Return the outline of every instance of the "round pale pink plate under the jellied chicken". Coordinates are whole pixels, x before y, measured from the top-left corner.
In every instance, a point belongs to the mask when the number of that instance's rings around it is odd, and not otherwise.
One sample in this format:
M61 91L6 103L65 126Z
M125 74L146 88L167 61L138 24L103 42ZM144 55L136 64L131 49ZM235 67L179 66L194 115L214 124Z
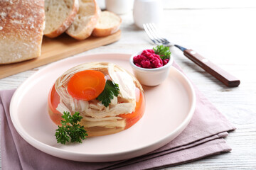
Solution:
M166 145L190 122L196 105L191 83L174 67L156 87L144 86L146 111L131 128L114 135L90 137L82 144L60 145L58 127L47 111L48 93L63 72L85 62L113 62L132 72L127 54L70 57L44 67L21 84L11 99L11 120L18 133L33 147L55 157L80 162L129 159Z

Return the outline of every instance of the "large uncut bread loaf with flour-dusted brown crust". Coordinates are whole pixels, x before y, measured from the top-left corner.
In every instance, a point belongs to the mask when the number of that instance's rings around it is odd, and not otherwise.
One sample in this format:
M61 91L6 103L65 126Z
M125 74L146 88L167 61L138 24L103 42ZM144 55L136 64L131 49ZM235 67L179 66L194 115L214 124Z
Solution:
M0 64L29 60L41 55L44 1L1 1Z

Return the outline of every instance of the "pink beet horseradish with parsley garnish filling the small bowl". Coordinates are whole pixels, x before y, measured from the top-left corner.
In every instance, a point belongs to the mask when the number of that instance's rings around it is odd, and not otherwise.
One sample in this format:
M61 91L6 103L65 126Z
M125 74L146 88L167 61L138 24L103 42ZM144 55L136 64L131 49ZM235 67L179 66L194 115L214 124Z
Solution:
M163 67L170 60L171 52L169 47L159 45L153 49L143 50L142 54L133 58L134 64L137 67L145 69L154 69Z

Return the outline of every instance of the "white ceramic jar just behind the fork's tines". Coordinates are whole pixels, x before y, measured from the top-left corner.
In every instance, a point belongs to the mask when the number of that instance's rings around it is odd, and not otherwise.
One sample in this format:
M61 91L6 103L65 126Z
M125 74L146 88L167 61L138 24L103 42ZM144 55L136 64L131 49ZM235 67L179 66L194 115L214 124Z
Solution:
M161 25L163 4L161 0L134 0L134 23L143 29L144 23Z

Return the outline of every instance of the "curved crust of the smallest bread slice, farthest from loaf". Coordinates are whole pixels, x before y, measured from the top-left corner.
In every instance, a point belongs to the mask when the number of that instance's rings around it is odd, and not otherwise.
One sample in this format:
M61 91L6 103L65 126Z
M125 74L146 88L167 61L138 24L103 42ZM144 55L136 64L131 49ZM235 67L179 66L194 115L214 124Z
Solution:
M112 13L110 11L107 11L109 13ZM115 13L113 13L115 16L117 16ZM119 30L120 28L120 25L122 23L122 18L120 18L119 16L117 16L120 21L117 25L115 26L112 26L111 28L97 28L97 26L95 27L95 29L92 31L92 35L95 36L95 37L105 37L105 36L108 36L108 35L111 35L113 33L116 33L117 30Z

